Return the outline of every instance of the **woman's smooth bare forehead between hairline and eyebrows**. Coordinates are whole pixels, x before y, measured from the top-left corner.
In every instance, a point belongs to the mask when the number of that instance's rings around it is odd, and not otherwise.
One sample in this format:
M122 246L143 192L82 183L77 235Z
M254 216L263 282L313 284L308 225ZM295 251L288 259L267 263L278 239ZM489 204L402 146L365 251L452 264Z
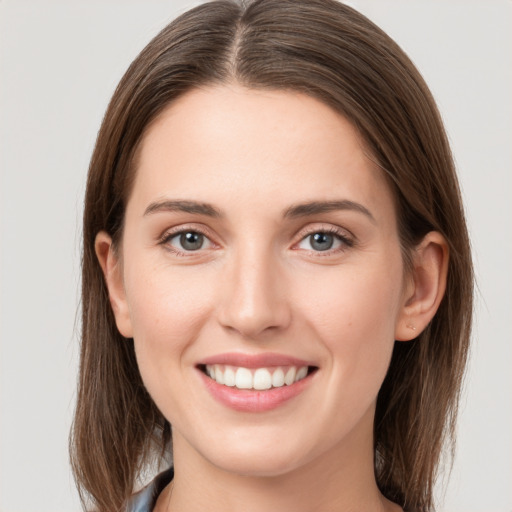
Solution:
M168 196L277 208L340 195L390 198L350 122L301 93L223 85L188 92L152 123L130 201L142 208Z

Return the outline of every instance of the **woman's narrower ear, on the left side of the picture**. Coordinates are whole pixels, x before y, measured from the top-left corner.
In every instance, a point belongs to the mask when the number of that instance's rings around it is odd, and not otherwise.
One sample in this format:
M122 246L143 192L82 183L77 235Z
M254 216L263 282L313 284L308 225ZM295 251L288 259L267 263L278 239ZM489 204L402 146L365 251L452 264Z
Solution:
M122 264L112 245L112 238L105 231L100 231L94 241L94 249L100 263L114 312L116 325L125 338L133 337L130 309L126 300L123 282Z

